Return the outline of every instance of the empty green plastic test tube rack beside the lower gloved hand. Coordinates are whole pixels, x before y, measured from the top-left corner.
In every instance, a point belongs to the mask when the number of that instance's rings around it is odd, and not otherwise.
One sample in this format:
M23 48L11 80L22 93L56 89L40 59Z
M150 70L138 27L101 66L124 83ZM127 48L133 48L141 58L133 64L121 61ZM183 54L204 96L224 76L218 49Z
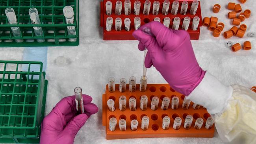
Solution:
M39 143L48 83L42 69L41 62L0 61L0 143Z

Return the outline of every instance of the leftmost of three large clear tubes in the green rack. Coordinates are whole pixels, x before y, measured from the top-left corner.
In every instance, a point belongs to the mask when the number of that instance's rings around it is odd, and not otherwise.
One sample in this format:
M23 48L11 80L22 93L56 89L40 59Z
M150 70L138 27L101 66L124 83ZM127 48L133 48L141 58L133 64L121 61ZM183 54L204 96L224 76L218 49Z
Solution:
M8 19L9 24L13 24L13 25L18 24L16 15L15 15L15 11L13 8L8 7L5 12L6 12L6 17ZM11 31L13 32L14 37L21 36L20 27L18 27L18 26L11 27ZM23 42L23 39L15 39L15 41L17 43L20 43L20 42Z

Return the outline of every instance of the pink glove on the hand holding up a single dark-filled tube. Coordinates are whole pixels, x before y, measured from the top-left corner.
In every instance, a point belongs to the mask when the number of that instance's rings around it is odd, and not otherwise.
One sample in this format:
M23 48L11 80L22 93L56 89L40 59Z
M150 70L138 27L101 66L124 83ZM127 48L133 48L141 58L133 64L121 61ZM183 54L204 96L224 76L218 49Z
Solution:
M78 115L75 96L65 97L58 102L42 122L40 144L73 144L86 120L98 112L92 100L91 96L83 94L85 113Z

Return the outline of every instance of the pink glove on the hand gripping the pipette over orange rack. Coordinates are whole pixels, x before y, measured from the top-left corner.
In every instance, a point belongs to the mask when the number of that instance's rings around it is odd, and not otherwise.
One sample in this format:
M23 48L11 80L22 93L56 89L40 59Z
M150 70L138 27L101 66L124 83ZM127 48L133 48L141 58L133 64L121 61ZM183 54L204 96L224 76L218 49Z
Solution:
M143 32L145 27L154 37ZM154 21L141 26L133 36L139 41L139 50L148 49L146 68L156 67L174 90L187 96L204 78L187 31L171 30Z

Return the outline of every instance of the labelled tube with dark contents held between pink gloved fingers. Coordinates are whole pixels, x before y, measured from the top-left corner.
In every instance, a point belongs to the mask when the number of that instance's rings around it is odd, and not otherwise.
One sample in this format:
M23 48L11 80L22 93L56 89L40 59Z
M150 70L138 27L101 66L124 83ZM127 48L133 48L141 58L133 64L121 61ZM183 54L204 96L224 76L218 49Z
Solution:
M84 109L83 109L83 95L82 95L81 87L76 87L74 89L74 92L75 92L75 101L76 101L76 111L78 111L80 114L84 113Z

